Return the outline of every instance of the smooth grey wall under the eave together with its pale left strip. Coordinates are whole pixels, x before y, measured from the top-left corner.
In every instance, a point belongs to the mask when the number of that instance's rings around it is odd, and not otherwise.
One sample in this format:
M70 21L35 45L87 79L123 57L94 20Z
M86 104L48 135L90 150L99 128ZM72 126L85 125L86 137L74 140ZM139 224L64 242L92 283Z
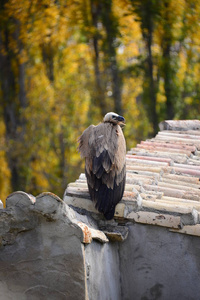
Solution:
M127 240L85 248L91 300L200 299L200 239L134 224Z

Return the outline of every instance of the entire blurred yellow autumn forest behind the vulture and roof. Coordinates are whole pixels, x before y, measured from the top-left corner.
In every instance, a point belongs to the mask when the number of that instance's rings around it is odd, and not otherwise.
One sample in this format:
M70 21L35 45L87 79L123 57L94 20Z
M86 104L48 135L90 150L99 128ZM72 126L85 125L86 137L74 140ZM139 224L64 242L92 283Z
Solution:
M127 149L200 117L200 0L1 0L0 197L62 197L108 111Z

